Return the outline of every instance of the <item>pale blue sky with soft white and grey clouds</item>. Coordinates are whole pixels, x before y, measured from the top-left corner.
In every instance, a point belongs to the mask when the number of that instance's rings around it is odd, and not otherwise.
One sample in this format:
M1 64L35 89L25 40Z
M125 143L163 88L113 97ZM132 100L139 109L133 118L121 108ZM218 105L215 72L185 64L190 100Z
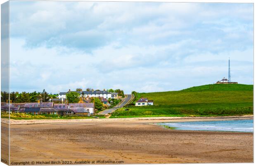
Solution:
M10 91L253 84L253 4L10 1Z

